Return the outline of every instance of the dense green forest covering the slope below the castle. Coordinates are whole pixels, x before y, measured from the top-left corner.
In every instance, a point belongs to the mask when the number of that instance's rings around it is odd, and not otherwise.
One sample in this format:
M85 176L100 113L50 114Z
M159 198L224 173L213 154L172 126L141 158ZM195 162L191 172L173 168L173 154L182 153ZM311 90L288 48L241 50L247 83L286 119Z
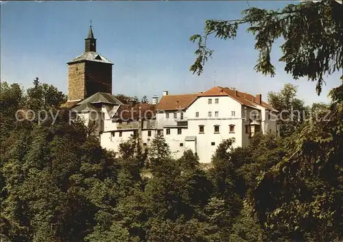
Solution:
M1 88L1 118L10 120L27 96ZM114 158L83 123L69 124L68 110L32 94L29 105L59 114L54 125L49 117L5 126L1 240L342 241L343 87L330 94L330 105L311 107L329 117L281 138L256 134L248 147L224 140L207 170L191 150L171 158L163 136L148 154L132 136ZM292 103L294 88L279 96Z

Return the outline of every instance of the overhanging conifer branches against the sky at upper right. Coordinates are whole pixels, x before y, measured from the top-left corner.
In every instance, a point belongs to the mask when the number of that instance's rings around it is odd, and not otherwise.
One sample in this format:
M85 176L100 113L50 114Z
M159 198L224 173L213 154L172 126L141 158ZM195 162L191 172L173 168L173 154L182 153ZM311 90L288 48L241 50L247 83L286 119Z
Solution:
M255 36L255 49L259 59L255 70L264 75L275 75L270 60L272 46L276 39L283 38L285 71L294 79L307 77L316 81L318 95L322 90L324 76L339 71L343 65L343 21L342 5L335 1L305 1L289 4L282 10L249 8L238 20L207 20L204 34L191 36L198 41L197 56L190 71L200 75L203 66L213 51L206 46L209 36L221 39L235 39L239 26L248 25L246 31Z

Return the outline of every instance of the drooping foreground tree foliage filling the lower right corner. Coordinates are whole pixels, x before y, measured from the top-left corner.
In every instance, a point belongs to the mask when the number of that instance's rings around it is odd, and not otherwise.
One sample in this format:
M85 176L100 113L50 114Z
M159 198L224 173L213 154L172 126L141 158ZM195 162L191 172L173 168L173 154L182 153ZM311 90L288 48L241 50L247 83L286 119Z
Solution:
M285 156L258 178L252 204L266 228L290 239L342 239L342 86L330 121L308 121L285 141ZM340 94L338 94L340 93Z

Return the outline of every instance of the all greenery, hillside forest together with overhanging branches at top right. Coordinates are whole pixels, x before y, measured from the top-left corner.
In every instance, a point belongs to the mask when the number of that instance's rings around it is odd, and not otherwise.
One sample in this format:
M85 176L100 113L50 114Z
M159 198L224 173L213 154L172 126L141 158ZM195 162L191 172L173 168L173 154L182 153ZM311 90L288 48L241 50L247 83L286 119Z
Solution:
M248 24L257 71L275 74L270 51L283 36L285 71L316 82L320 94L325 76L342 71L343 21L332 2L206 21L205 35L191 37L199 47L191 71L200 75L213 53L206 38L234 38ZM297 27L302 34L289 34ZM163 136L146 150L132 137L115 158L91 126L69 123L60 108L67 97L56 87L1 82L1 241L343 241L343 74L329 97L305 106L292 84L269 93L277 110L316 115L280 121L280 135L256 135L248 147L223 140L204 169L191 151L171 158ZM58 115L54 125L50 116L18 121L17 110Z

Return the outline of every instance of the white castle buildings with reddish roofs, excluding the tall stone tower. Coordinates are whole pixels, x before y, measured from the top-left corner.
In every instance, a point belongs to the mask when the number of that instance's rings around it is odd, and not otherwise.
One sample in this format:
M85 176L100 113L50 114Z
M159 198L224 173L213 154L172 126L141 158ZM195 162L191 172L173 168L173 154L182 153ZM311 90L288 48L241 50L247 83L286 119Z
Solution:
M234 147L244 147L256 132L279 133L276 110L263 102L261 95L220 86L186 95L165 91L161 100L154 97L152 104L124 105L117 99L106 103L93 96L73 110L84 119L98 117L100 143L113 152L130 136L137 136L144 148L154 136L163 135L174 158L191 149L200 162L208 163L224 139L235 138Z

